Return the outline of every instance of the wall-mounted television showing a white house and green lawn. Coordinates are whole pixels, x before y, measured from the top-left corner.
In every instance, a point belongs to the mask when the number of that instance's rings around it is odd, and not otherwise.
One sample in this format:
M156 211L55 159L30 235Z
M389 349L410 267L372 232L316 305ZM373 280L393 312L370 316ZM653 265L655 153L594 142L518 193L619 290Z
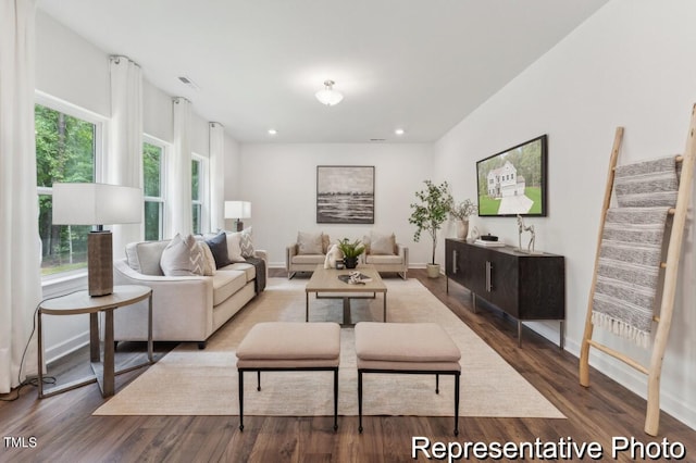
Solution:
M476 162L478 216L546 216L547 136Z

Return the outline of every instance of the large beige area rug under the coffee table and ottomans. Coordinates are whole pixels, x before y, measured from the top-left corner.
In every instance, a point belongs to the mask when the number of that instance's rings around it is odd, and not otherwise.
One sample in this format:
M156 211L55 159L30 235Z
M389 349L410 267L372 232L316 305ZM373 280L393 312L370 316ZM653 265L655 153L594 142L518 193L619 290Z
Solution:
M235 348L259 322L304 322L307 279L270 278L265 291L217 330L204 350L182 343L124 387L95 415L236 415L239 413ZM385 279L388 322L435 322L462 352L462 416L563 418L548 400L415 279ZM352 322L382 321L382 296L351 302ZM310 297L310 323L341 323L343 302ZM338 413L358 414L353 328L340 330ZM453 378L434 375L363 376L365 415L453 416ZM268 372L245 376L245 414L333 414L330 372Z

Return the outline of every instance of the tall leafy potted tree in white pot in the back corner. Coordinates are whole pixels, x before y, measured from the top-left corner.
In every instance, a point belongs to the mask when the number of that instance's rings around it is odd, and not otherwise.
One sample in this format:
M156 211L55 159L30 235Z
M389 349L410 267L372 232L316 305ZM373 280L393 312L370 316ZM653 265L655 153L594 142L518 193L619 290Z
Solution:
M437 278L439 276L439 264L435 263L435 249L437 247L437 230L447 220L452 204L452 196L449 192L449 184L443 182L435 185L431 180L425 180L425 189L415 192L418 202L411 204L413 212L409 217L409 223L415 225L413 240L420 241L421 233L427 232L433 240L433 259L427 264L427 276Z

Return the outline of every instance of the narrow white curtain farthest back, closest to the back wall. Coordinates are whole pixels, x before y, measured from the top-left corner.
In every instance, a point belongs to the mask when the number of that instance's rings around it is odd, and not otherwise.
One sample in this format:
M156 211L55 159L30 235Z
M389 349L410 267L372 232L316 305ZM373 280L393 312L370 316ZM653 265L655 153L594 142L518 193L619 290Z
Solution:
M210 229L225 228L225 128L210 123Z

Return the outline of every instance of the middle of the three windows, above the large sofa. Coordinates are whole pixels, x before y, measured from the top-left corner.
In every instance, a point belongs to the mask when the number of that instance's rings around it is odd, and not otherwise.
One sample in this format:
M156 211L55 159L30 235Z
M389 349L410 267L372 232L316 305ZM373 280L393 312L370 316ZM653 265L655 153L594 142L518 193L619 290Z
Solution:
M162 239L164 226L164 143L145 136L142 176L145 193L145 239Z

